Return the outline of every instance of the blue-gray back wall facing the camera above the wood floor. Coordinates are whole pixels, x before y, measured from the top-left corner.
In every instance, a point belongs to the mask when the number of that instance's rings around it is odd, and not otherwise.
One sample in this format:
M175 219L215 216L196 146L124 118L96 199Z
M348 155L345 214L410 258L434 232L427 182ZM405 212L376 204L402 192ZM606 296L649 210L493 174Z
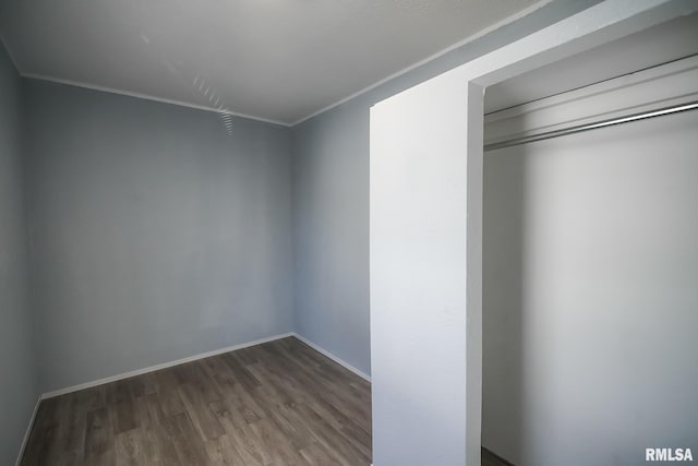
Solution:
M43 392L292 331L288 128L26 91Z

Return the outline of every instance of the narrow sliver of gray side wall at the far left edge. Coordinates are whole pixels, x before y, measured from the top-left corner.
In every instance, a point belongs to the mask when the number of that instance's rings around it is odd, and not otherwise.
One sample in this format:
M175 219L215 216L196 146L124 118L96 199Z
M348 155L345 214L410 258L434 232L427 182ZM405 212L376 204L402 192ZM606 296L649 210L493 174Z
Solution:
M0 46L0 464L13 464L37 399L23 194L22 82Z

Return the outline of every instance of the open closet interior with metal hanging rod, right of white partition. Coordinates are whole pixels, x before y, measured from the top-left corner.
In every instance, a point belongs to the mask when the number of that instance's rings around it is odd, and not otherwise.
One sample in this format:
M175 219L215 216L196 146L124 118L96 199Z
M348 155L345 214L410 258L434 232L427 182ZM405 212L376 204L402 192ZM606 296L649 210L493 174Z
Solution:
M697 129L698 14L486 88L483 466L698 447Z

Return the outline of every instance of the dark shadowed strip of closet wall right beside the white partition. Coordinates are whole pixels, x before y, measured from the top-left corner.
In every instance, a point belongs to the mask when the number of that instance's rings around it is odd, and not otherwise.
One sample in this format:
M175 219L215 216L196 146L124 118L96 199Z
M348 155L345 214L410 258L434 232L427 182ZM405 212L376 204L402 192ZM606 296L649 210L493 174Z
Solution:
M525 157L485 153L482 444L513 463L521 451L525 168Z

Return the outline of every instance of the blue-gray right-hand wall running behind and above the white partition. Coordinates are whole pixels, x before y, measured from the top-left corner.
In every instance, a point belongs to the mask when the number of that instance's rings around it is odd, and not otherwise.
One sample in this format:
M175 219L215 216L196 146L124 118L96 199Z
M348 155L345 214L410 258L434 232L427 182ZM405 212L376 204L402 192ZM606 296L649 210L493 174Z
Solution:
M369 108L598 2L554 1L293 127L294 315L300 335L371 372Z

